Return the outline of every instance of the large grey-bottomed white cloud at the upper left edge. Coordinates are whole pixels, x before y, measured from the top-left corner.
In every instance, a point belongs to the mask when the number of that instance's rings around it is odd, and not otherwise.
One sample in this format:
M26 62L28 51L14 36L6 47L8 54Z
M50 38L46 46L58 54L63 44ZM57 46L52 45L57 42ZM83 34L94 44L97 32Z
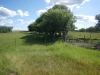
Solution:
M17 15L16 11L0 7L0 17L14 17L16 15Z

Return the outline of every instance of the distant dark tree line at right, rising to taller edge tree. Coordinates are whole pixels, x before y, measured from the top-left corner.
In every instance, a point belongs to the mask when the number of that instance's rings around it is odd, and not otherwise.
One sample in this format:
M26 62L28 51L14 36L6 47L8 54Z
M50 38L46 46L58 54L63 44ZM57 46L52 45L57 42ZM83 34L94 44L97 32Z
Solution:
M98 21L98 23L94 27L89 28L81 28L78 31L80 32L100 32L100 14L95 16L95 19Z

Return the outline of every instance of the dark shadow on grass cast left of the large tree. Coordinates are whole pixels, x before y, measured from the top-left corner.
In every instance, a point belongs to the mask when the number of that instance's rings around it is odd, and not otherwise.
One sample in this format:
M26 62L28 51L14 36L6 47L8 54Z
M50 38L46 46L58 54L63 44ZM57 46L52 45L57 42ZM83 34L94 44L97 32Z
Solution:
M33 44L50 45L56 41L52 37L47 36L43 33L37 33L37 32L22 32L22 33L26 34L26 36L21 37L21 39L24 40L24 45L33 45Z

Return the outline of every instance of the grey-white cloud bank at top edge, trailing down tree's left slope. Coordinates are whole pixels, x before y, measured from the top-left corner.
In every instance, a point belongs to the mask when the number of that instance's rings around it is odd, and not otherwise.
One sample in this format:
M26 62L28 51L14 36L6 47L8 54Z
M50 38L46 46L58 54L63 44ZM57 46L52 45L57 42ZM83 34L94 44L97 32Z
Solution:
M73 7L76 6L76 8L80 8L79 5L83 5L85 2L88 2L90 0L45 0L46 3L53 3L52 6L47 6L47 9L50 9L54 6L54 4L64 4L67 7L69 7L69 9L72 11ZM42 13L46 12L46 9L43 10L39 10L37 11L37 15L41 15Z

